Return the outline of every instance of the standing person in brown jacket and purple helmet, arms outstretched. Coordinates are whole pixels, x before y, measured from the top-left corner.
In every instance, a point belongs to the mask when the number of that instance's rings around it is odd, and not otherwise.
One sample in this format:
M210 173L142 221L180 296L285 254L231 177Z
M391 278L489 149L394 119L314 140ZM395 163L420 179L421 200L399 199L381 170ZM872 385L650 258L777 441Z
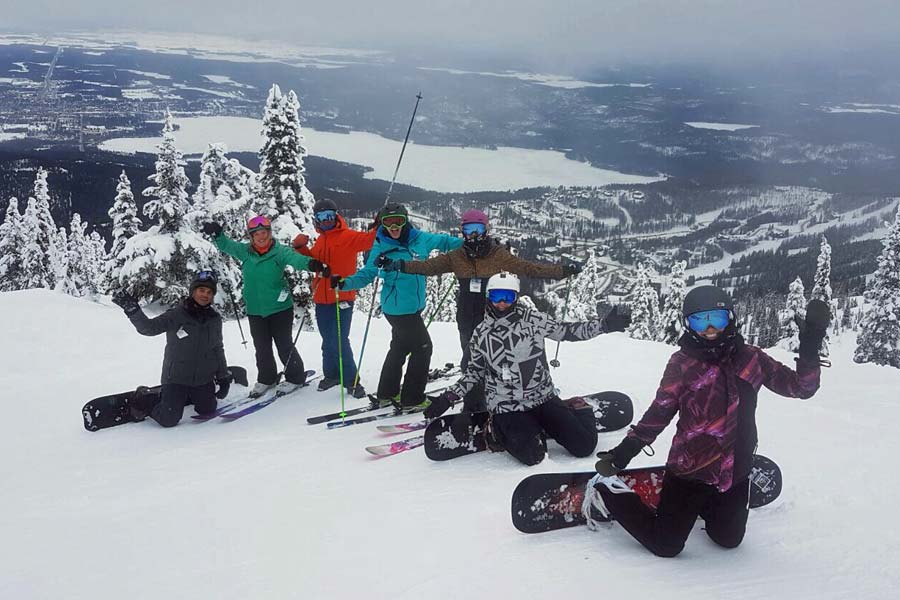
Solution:
M400 271L417 275L453 273L459 280L456 296L456 326L463 356L463 371L469 364L469 340L472 332L484 320L485 286L488 279L500 272L514 273L537 279L564 279L581 272L577 264L551 265L536 263L513 255L498 240L491 237L487 215L470 209L463 213L460 229L463 245L456 250L428 260L390 260L381 258L377 266L385 271ZM379 264L380 263L380 264ZM473 411L484 409L484 387L476 386L466 394L465 404Z

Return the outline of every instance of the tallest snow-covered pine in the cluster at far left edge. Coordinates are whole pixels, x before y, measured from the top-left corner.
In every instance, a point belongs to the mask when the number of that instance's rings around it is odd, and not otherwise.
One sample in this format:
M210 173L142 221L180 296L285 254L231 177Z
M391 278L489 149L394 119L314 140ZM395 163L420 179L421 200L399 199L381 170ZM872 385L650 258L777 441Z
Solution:
M22 271L26 289L56 286L57 274L65 259L60 251L59 233L50 213L47 171L38 168L34 179L34 195L28 198L22 217Z

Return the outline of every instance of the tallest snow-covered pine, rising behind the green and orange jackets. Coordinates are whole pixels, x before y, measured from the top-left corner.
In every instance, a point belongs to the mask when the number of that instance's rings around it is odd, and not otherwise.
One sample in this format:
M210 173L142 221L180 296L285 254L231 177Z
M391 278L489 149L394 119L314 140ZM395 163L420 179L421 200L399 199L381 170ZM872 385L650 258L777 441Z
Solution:
M306 148L300 132L299 111L300 101L293 91L282 95L277 85L272 86L263 115L259 200L254 210L272 220L272 235L284 244L290 244L300 232L310 239L316 236L312 218L315 198L306 188L303 176ZM291 267L286 272L295 304L301 310L311 310L310 275L295 273Z

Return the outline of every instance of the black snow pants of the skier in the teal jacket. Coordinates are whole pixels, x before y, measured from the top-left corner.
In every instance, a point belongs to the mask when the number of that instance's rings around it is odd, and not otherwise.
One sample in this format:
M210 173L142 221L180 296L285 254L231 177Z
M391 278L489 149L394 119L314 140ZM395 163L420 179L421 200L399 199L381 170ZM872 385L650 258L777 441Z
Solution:
M431 366L431 337L422 321L422 313L384 316L391 324L391 347L381 367L378 397L394 398L400 394L403 406L415 406L425 400L425 384L428 383L428 367ZM409 364L403 377L407 356Z

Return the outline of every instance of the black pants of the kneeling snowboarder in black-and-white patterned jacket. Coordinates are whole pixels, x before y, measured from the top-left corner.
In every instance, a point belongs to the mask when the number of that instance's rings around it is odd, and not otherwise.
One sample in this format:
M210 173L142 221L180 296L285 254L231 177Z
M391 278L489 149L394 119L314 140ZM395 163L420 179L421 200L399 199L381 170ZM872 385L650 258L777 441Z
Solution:
M493 415L491 431L507 452L529 466L544 460L546 436L573 456L590 456L597 447L593 409L572 410L556 397L531 410Z

